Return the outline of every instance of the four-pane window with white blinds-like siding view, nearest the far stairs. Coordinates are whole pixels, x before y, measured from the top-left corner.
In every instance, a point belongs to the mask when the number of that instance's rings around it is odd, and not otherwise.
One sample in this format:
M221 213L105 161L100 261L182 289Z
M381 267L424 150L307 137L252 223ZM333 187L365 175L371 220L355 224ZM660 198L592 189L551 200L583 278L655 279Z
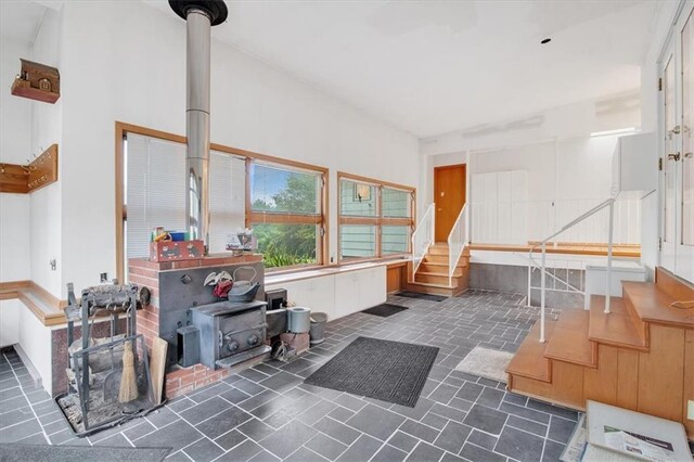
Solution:
M338 174L339 260L410 252L414 189Z

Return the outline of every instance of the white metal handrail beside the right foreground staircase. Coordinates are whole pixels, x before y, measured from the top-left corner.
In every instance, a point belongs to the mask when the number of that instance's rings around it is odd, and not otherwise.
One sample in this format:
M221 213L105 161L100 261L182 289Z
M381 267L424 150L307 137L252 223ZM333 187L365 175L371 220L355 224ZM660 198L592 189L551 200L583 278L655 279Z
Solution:
M562 234L564 231L573 228L574 226L580 223L587 218L592 217L600 210L607 207L609 207L609 220L608 220L608 231L607 231L607 273L606 273L606 281L605 281L607 290L605 291L605 313L609 313L609 296L611 296L611 287L612 287L612 281L611 281L612 279L612 245L613 245L613 230L614 230L614 217L615 217L615 201L616 201L616 197L611 197L600 203L599 205L591 208L587 213L582 214L578 218L571 220L567 224L564 224L558 231L554 232L553 234L540 241L538 244L530 247L530 251L528 252L528 258L529 258L528 278L531 271L530 266L532 264L539 266L540 268L540 342L544 343L545 341L544 338L544 298L545 298L545 292L547 292L547 275L549 274L547 271L547 243L552 241L557 235ZM535 260L535 258L532 258L532 253L538 247L541 248L541 253L542 253L539 265Z

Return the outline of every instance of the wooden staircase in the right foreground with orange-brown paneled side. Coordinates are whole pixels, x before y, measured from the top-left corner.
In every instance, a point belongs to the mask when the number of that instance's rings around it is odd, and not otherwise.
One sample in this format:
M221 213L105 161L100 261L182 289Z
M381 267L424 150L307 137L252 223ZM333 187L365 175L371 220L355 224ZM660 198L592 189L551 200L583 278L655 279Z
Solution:
M574 409L589 399L681 422L694 438L694 286L658 268L656 283L622 281L622 296L536 323L509 364L509 390ZM694 406L694 405L693 405ZM694 419L694 416L692 416Z

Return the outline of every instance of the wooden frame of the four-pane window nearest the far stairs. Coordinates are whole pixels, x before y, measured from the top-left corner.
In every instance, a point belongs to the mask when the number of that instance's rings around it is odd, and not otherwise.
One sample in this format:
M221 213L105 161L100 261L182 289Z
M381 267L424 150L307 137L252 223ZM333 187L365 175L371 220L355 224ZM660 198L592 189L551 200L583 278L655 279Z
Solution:
M362 184L369 184L376 188L376 215L374 217L360 217L354 215L342 214L342 183L343 180L359 182ZM410 193L412 200L410 201L410 217L409 218L396 218L396 217L383 217L383 188L395 189L400 191L407 191ZM347 174L344 171L337 172L337 264L350 265L356 262L384 260L390 258L397 258L412 253L412 233L415 227L416 211L416 188L408 187L404 184L391 183L389 181L383 181L375 178L362 177L359 175ZM362 224L375 227L375 256L363 258L349 258L344 259L342 256L342 226L343 224ZM410 229L408 236L408 248L401 254L388 254L383 255L383 233L382 228L384 226L407 226Z

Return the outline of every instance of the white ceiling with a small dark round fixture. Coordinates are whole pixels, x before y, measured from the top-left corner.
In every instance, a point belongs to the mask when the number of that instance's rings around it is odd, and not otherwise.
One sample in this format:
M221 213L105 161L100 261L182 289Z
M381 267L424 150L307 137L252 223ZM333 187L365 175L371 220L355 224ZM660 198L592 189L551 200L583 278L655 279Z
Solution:
M177 17L167 1L144 1ZM227 4L217 39L420 138L638 88L659 8L651 0ZM33 40L44 7L0 5L2 36ZM545 37L552 41L540 44Z

